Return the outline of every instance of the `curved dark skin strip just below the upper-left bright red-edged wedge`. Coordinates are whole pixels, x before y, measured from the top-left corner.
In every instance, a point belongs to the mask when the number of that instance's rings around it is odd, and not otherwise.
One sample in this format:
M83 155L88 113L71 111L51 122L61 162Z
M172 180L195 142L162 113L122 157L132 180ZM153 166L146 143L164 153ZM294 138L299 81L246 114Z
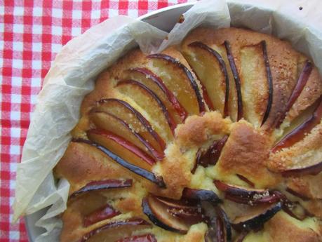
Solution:
M174 135L175 128L177 127L177 124L173 120L172 116L170 116L170 114L168 112L168 109L166 109L166 106L163 104L163 102L160 100L160 98L151 89L147 88L147 86L145 86L142 83L140 83L138 81L135 81L135 80L119 81L116 86L122 86L122 85L126 85L126 84L140 86L140 88L142 88L145 91L147 91L147 93L149 93L149 95L151 95L152 98L154 98L154 100L156 100L156 102L158 103L159 107L161 107L164 116L166 117L166 121L168 122L168 125L170 126L170 130L172 131L172 133Z

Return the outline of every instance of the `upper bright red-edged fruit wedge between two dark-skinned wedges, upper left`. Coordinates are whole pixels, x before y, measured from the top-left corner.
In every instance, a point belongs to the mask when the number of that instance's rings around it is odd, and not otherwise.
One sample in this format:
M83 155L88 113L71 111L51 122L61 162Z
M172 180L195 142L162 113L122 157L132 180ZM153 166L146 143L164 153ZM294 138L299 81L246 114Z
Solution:
M187 111L175 95L166 87L162 79L145 67L136 67L126 72L127 79L133 79L147 86L164 103L176 123L182 123L187 118Z

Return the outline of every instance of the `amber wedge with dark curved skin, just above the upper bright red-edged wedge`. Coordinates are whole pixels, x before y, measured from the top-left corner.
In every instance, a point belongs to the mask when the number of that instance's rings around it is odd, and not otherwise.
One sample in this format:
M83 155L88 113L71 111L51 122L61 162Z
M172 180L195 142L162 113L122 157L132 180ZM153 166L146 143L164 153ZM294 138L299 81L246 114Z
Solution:
M189 115L206 111L196 79L185 65L163 53L148 55L147 58L152 62L152 68L159 70L163 83L174 93Z

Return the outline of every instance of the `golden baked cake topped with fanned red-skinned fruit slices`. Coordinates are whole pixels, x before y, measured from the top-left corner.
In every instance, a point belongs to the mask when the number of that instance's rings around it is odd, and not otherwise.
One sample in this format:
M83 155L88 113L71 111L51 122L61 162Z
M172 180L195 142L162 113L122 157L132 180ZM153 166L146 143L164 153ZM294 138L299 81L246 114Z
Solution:
M290 43L199 28L81 105L62 242L322 241L322 81Z

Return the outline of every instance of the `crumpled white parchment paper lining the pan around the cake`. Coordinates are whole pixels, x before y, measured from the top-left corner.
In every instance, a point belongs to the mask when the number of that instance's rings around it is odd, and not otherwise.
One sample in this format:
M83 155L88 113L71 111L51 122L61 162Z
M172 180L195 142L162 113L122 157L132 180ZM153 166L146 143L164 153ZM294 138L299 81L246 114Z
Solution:
M302 7L302 10L300 10ZM70 130L79 120L83 97L93 90L95 76L130 48L145 53L162 51L180 43L200 25L214 28L247 27L290 41L309 55L322 74L322 2L319 0L224 0L199 1L185 21L168 34L125 16L92 27L69 41L46 75L18 165L14 220L51 206L36 225L46 233L36 241L58 241L66 208L69 183L55 182L52 169L64 154Z

